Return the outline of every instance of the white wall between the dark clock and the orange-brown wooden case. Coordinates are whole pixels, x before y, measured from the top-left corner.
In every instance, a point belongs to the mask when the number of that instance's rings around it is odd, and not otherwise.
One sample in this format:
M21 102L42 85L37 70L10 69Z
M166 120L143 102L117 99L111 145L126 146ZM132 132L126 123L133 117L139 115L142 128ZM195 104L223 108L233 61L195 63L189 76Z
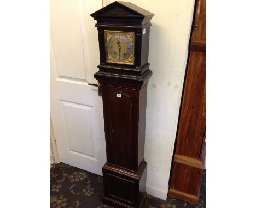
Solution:
M194 0L128 1L155 14L150 27L153 76L148 83L145 160L147 192L166 199Z

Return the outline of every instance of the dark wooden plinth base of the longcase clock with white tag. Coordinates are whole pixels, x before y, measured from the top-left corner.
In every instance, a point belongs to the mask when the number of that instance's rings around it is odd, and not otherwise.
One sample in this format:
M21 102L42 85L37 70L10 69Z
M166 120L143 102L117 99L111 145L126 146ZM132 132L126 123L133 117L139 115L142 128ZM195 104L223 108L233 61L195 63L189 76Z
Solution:
M146 199L147 163L138 172L106 163L103 168L104 204L113 207L141 208Z

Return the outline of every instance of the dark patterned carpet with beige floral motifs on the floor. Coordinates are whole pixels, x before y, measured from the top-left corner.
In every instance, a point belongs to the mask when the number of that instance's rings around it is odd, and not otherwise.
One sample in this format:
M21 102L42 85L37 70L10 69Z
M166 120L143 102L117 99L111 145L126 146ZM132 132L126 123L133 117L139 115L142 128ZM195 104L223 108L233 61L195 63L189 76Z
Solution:
M50 170L50 207L102 208L102 176L67 164L54 164ZM167 198L166 201L147 195L144 207L149 208L199 208L206 207L206 173L203 174L199 205Z

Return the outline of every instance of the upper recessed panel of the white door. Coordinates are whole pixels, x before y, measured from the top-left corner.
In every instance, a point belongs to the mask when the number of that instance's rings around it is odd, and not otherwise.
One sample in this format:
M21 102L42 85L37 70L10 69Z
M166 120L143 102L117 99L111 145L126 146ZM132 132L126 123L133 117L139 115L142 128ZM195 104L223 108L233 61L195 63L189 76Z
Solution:
M83 49L80 15L83 8L78 0L51 1L51 36L57 65L57 75L85 79L86 51Z

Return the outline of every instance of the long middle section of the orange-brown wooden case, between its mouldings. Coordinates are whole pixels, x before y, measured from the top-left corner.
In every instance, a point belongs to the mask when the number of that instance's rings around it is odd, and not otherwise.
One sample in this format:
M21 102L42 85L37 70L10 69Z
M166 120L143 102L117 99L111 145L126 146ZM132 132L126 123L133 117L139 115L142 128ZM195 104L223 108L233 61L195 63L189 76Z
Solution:
M200 158L206 126L206 53L191 51L183 95L176 154Z

